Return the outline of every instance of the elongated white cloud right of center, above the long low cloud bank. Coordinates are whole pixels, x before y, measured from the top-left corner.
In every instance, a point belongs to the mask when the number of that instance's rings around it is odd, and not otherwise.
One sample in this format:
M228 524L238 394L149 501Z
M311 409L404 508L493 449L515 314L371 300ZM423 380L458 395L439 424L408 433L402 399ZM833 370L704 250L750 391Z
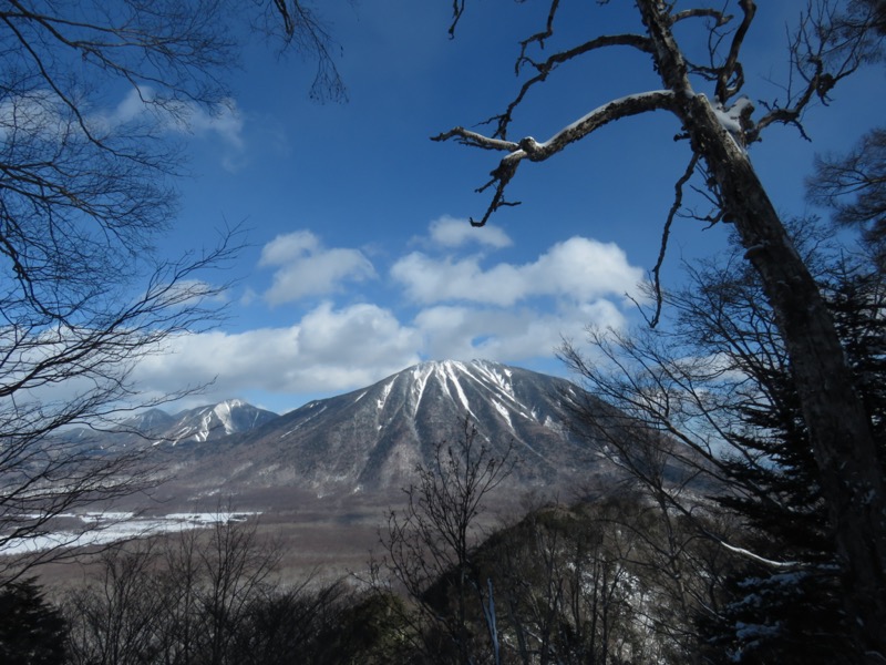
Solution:
M502 263L484 269L480 264L478 256L439 259L413 252L394 264L391 276L418 303L462 300L501 307L535 296L575 301L621 297L642 279L642 270L628 263L620 247L583 237L558 243L525 265Z

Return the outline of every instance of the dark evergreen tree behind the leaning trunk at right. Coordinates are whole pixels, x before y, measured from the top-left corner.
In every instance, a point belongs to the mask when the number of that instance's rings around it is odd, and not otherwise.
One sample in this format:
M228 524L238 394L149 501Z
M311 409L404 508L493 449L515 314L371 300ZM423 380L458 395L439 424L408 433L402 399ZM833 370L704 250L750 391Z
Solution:
M708 275L710 278L710 275ZM733 276L734 277L734 276ZM842 611L833 533L821 494L821 478L791 367L777 338L762 335L771 313L760 317L730 311L755 298L755 280L732 282L745 296L724 301L729 329L709 327L709 335L731 340L730 362L752 377L756 399L736 407L741 428L730 432L743 454L732 454L722 468L734 485L752 491L718 497L748 526L750 549L774 563L744 563L727 582L730 602L703 630L718 652L739 663L841 663L853 661L851 630ZM883 274L867 262L846 258L820 276L846 358L855 375L875 437L883 451L886 319ZM708 285L705 288L722 288ZM698 317L689 317L698 325ZM711 317L704 317L710 324ZM735 321L755 321L735 335ZM711 329L713 328L713 329ZM754 338L754 352L738 338ZM880 456L880 464L883 456Z

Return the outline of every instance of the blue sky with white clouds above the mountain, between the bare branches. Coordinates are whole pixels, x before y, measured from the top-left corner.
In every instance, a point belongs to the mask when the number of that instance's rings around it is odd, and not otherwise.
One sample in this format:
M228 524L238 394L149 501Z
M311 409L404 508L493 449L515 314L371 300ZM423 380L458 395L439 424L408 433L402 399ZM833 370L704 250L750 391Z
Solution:
M637 29L628 3L566 4L559 43ZM781 94L793 4L761 3L744 59L752 99ZM162 246L173 255L210 246L226 224L248 229L236 265L204 276L238 280L228 318L144 361L134 376L145 391L215 378L182 406L237 397L282 412L422 360L488 358L563 374L562 337L636 321L625 295L655 264L688 160L671 116L621 121L523 166L509 191L523 205L483 229L466 219L485 209L487 195L474 188L497 156L429 140L505 108L522 81L518 41L544 24L546 6L468 2L450 40L443 0L323 3L346 104L311 102L311 62L278 59L253 38L230 75L230 111L192 116L183 137L192 175L179 182L181 215ZM690 31L683 38L689 49L704 45ZM882 121L882 72L863 72L808 113L812 144L775 127L753 147L785 214L806 209L803 178L816 151L845 149ZM543 140L610 99L659 86L641 54L600 52L536 89L511 135ZM666 284L679 280L681 260L723 247L727 233L682 222Z

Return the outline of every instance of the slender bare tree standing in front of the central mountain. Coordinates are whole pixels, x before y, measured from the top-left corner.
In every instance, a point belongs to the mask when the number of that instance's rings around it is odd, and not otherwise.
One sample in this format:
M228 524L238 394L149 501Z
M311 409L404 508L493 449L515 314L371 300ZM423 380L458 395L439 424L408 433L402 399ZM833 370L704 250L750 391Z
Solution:
M462 438L434 447L432 466L419 467L416 482L404 489L406 507L388 516L385 557L378 563L415 603L415 633L434 662L470 665L476 649L498 662L494 591L477 579L473 552L484 502L514 463L511 447L494 457L465 420ZM476 625L486 640L475 636Z

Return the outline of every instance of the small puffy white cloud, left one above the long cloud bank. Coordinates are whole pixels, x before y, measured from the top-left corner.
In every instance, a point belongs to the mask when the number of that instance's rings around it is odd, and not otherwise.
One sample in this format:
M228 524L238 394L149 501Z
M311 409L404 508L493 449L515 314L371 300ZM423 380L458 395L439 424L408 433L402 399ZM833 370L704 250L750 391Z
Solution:
M261 249L260 267L276 267L274 284L265 293L271 305L306 296L340 291L344 282L375 277L372 263L359 249L326 249L309 231L277 236Z

